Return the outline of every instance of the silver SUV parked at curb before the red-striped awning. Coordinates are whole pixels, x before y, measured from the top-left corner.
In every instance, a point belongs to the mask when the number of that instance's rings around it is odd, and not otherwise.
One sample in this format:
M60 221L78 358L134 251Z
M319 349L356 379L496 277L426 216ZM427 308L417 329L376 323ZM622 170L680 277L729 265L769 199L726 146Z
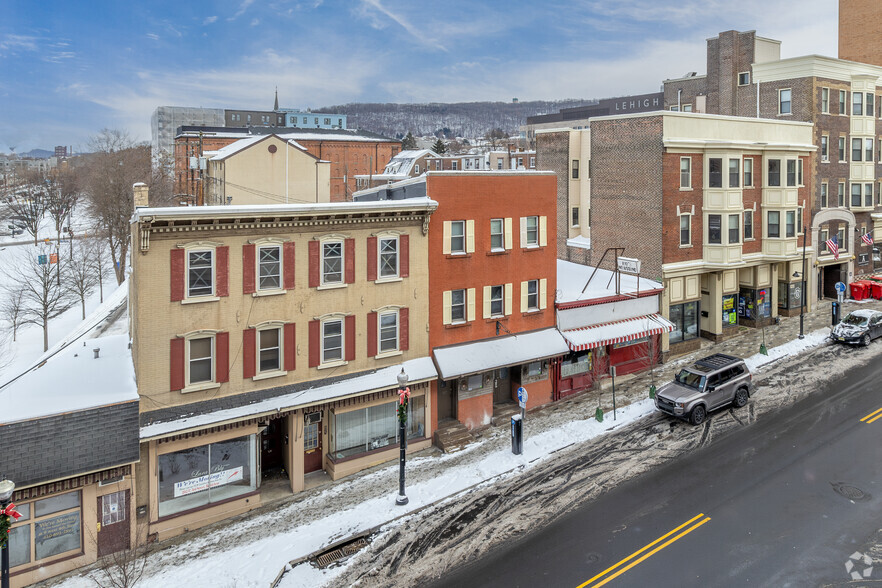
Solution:
M708 412L722 406L732 404L741 408L753 390L750 370L744 360L717 353L680 370L673 382L659 389L655 406L698 425L704 422Z

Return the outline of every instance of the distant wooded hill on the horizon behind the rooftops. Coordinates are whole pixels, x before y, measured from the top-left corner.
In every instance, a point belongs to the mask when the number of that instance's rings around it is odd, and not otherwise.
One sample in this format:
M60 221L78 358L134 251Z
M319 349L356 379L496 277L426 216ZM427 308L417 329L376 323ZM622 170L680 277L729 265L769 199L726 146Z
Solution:
M534 100L532 102L454 102L443 104L358 103L327 106L314 112L345 114L347 126L401 138L444 132L447 137L483 137L500 128L510 136L527 122L528 116L558 112L593 100Z

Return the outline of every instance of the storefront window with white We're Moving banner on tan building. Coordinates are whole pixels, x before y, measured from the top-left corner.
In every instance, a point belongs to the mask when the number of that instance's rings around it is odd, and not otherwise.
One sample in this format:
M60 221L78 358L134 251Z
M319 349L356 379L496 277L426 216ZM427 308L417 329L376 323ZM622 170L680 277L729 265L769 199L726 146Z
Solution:
M255 435L159 456L159 516L257 489Z

